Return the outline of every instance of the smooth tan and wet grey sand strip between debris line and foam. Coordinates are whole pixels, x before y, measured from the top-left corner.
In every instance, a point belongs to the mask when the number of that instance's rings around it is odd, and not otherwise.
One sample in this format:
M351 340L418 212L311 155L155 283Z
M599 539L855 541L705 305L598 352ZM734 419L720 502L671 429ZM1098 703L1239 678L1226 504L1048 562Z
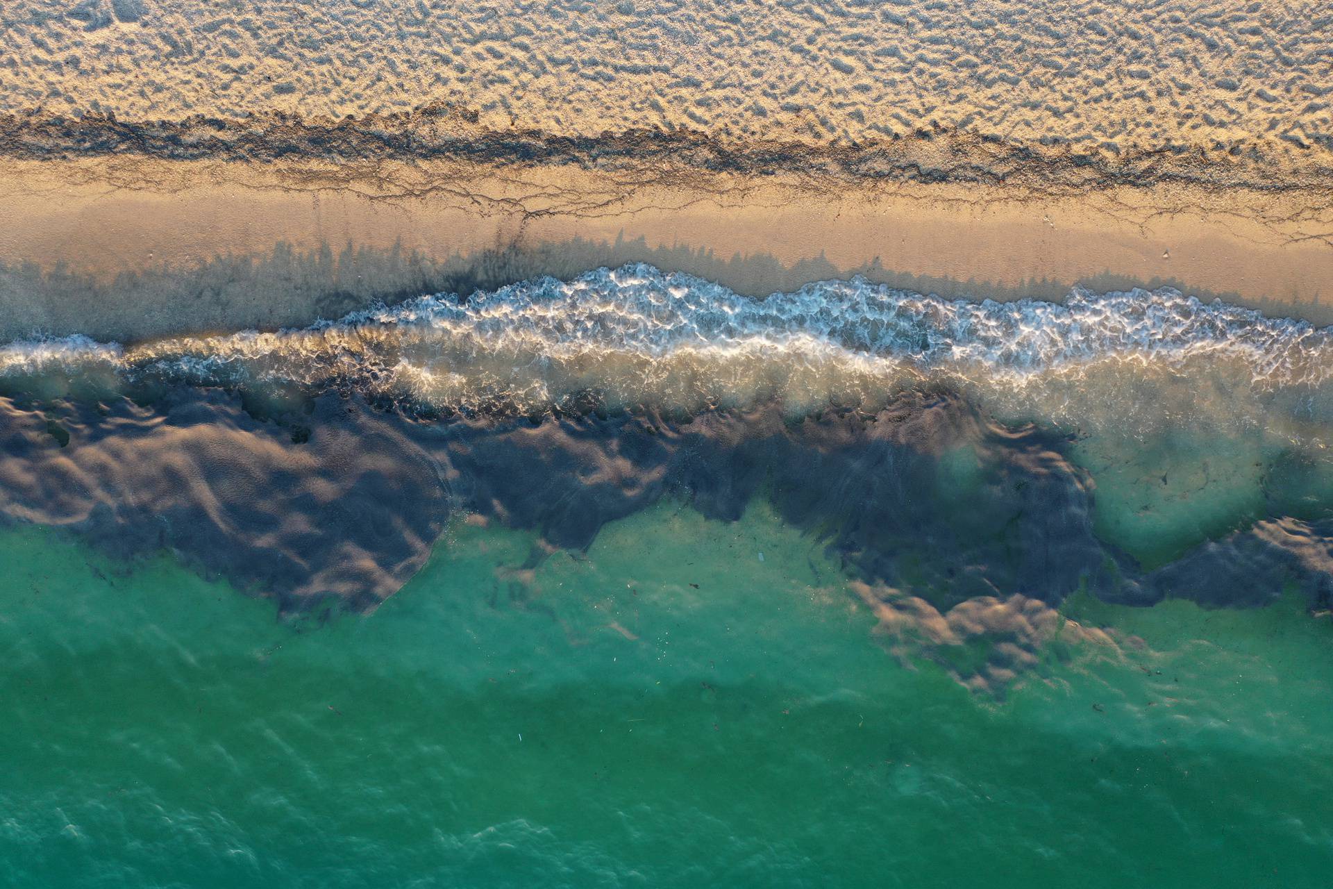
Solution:
M299 325L627 261L746 295L853 273L996 299L1169 284L1333 321L1333 208L1318 189L1016 181L648 169L627 157L604 171L12 160L0 171L0 337Z

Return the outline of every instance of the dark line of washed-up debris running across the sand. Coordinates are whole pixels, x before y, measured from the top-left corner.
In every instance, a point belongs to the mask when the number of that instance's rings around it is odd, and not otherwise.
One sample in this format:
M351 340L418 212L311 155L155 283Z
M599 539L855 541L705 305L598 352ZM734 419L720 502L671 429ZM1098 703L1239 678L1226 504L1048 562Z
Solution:
M1005 141L948 128L857 144L810 144L781 137L729 140L688 129L629 128L597 136L541 129L489 129L475 111L432 104L412 112L332 120L283 112L243 119L196 115L181 120L120 120L41 111L0 115L0 156L13 160L145 157L273 163L432 160L495 165L576 165L633 171L641 184L682 184L698 172L742 176L789 173L808 183L961 183L1009 185L1033 193L1085 193L1110 187L1184 184L1208 189L1300 192L1333 183L1333 144L1276 163L1254 147L1172 145L1109 153Z

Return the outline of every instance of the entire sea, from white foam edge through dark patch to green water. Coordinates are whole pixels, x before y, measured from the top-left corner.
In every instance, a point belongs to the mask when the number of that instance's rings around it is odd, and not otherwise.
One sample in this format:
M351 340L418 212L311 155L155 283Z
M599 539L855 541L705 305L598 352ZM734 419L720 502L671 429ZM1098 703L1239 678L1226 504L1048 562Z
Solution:
M0 882L1326 885L1330 361L648 267L9 344Z

